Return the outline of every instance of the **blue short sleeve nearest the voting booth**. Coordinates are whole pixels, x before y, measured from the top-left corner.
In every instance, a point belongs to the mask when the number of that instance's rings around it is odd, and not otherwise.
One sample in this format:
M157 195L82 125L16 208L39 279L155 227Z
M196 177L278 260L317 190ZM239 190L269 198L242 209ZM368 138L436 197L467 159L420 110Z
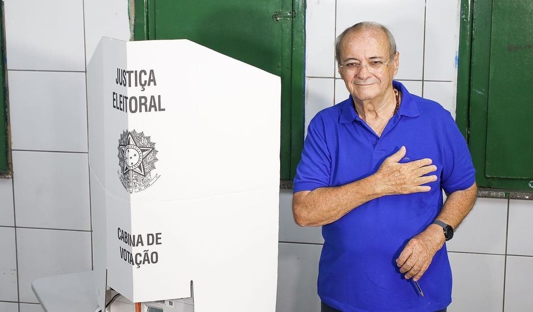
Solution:
M304 141L302 158L296 167L294 193L329 186L331 156L324 129L324 122L318 116L311 120Z

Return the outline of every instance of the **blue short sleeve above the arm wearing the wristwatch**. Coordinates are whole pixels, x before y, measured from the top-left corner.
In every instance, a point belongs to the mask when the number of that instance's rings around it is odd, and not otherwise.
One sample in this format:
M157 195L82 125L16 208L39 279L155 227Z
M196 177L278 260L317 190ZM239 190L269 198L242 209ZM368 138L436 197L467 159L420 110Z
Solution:
M441 185L446 193L466 190L475 182L475 169L465 138L449 116L443 133Z

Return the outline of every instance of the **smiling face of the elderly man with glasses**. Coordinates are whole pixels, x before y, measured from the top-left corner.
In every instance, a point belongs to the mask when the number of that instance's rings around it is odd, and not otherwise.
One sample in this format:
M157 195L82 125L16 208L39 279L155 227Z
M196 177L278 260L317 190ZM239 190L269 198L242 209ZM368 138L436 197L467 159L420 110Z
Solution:
M360 68L339 68L344 84L354 100L381 100L392 88L398 72L399 53L389 55L389 40L379 29L365 29L346 35L341 43L341 64L362 64ZM383 62L384 65L375 65ZM367 65L368 66L364 66ZM353 65L353 64L352 64ZM377 66L377 67L376 67Z

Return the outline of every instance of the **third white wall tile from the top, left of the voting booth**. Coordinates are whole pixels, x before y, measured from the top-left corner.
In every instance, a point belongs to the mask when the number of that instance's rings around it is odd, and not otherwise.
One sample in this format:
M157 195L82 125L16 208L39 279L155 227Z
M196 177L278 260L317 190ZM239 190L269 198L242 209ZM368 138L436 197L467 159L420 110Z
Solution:
M17 226L90 231L87 162L86 153L13 151Z

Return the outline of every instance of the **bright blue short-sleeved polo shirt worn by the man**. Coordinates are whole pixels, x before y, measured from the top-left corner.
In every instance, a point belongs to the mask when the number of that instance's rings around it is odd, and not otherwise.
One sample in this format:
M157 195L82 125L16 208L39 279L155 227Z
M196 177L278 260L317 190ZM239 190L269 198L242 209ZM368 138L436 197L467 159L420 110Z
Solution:
M322 226L318 294L344 312L433 312L451 302L446 245L418 281L406 280L395 264L411 237L429 226L442 207L442 190L474 184L464 137L451 114L436 102L409 94L398 81L400 109L381 137L359 118L352 97L320 111L310 122L294 192L340 186L374 174L385 158L406 146L400 162L431 158L437 175L430 192L389 195L353 209ZM430 174L430 175L431 175Z

